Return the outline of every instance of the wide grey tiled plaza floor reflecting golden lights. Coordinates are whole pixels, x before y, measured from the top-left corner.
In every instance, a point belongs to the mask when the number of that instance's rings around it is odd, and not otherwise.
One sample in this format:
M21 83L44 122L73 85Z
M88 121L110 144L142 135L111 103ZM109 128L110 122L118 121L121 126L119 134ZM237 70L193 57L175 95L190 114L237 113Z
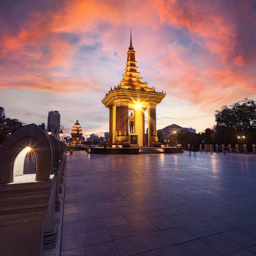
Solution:
M256 156L68 156L61 255L256 255Z

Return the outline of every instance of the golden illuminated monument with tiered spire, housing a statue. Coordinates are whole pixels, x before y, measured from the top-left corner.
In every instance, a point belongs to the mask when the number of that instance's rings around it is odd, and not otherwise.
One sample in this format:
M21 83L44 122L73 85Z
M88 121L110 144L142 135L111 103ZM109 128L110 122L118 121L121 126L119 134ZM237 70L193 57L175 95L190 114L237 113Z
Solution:
M127 62L123 79L106 94L102 103L110 110L109 142L107 146L160 146L156 132L156 105L165 97L165 93L156 92L148 87L139 77L135 51L132 46L132 32L130 46L127 52ZM148 110L148 142L145 136L145 110ZM129 110L134 112L130 113ZM135 126L135 129L134 129ZM128 129L130 133L128 134Z

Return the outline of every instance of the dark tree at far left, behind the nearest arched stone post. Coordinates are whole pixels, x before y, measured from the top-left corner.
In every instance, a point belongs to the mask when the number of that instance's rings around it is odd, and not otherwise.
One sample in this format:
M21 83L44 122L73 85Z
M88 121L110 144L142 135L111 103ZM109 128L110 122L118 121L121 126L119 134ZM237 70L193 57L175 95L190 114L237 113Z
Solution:
M6 140L8 136L20 129L24 125L18 119L12 119L6 116L0 117L0 144Z

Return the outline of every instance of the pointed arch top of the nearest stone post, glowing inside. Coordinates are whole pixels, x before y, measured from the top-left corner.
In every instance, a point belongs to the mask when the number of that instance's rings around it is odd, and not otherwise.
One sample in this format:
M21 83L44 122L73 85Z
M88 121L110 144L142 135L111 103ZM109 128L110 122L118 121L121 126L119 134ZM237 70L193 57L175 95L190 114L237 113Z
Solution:
M6 139L0 148L0 183L23 175L24 159L29 150L36 156L36 181L49 180L54 152L48 135L36 124L23 126Z

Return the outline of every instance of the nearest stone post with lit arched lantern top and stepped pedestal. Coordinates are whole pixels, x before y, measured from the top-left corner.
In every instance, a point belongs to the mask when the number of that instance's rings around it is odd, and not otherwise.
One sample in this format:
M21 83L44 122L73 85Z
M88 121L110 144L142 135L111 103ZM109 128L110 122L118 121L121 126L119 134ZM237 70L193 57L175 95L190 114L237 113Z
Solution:
M23 174L29 150L36 156L35 174ZM42 255L44 216L55 196L52 165L52 144L36 124L23 126L0 148L1 255Z

